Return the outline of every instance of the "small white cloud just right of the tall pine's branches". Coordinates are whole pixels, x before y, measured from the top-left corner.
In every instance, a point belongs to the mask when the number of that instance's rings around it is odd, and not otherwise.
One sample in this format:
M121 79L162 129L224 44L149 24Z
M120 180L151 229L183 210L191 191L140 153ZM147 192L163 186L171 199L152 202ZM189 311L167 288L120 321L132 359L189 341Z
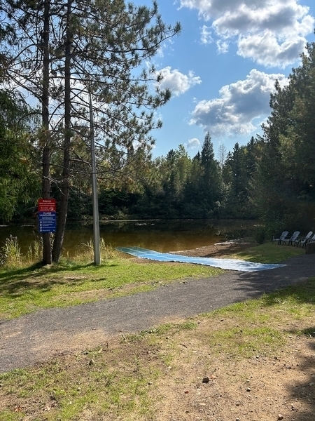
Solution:
M159 82L160 88L169 88L175 96L179 96L188 91L192 86L202 83L200 77L194 76L193 72L183 74L177 69L172 70L169 66L161 69L157 73L162 74L163 78L162 81Z

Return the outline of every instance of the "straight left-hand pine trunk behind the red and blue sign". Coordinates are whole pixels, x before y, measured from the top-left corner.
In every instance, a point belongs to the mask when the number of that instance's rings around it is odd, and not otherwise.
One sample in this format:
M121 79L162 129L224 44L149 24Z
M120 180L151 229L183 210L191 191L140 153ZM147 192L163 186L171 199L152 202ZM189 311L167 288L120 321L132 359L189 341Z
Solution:
M49 12L50 0L44 2L44 24L43 24L43 92L41 95L42 104L42 125L43 125L43 170L42 170L42 195L43 199L50 198L50 147L49 147ZM52 262L50 232L43 233L43 265L50 265Z

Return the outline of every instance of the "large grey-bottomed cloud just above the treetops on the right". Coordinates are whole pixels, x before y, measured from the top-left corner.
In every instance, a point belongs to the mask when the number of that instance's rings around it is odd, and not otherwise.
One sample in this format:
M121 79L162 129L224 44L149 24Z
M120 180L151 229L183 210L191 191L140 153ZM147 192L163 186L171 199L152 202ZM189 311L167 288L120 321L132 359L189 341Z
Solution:
M223 86L219 98L198 102L190 125L202 126L218 137L252 133L270 114L270 93L276 79L281 86L288 83L283 74L251 70L245 80Z

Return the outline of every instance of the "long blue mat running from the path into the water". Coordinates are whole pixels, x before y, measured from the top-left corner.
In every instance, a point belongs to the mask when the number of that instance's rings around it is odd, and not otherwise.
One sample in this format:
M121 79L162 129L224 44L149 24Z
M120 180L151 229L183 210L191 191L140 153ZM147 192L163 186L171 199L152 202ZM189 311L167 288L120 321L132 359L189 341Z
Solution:
M258 270L276 269L277 267L286 266L246 262L246 260L238 259L193 258L172 253L159 253L158 251L147 250L146 248L140 247L117 247L117 250L136 256L137 258L158 260L159 262L195 263L197 265L207 265L219 267L221 269L239 270L242 272L255 272Z

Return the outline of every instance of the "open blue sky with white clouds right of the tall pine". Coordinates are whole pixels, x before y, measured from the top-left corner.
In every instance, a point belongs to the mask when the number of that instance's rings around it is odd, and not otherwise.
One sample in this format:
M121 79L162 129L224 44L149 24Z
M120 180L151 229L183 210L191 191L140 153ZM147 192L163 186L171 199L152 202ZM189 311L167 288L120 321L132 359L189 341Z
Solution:
M151 6L151 0L132 1ZM314 0L158 0L162 20L181 23L153 63L172 98L156 113L153 157L184 145L190 156L209 131L218 159L224 145L246 145L262 134L270 93L300 65L307 42L315 41Z

